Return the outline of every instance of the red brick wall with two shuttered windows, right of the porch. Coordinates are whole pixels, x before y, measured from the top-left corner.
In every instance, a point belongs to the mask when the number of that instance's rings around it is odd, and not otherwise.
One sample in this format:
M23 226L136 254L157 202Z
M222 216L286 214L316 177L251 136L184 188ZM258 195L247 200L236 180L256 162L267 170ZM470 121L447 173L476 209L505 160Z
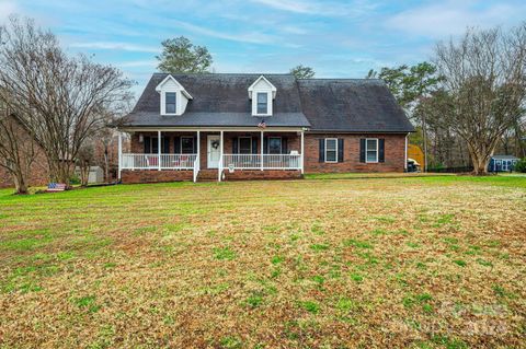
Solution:
M319 162L319 139L343 138L344 161L341 163ZM385 143L386 161L382 163L359 162L359 139L382 138ZM403 172L405 159L405 135L315 135L305 133L305 172Z

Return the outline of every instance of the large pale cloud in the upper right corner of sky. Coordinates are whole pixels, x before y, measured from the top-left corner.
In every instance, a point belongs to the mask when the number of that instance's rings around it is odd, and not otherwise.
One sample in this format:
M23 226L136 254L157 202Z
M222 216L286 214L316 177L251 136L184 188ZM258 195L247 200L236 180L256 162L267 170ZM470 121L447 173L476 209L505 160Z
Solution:
M413 36L443 38L462 34L468 26L492 27L519 21L525 12L525 4L481 7L472 1L449 0L400 12L388 19L386 25Z

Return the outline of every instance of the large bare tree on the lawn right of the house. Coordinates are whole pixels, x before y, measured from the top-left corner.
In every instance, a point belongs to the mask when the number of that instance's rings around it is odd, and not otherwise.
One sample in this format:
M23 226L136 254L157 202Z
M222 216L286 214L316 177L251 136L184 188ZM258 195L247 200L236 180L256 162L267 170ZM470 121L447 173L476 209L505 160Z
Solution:
M442 121L465 139L474 174L485 174L503 133L524 115L526 22L510 32L469 30L439 43L435 56L450 95Z

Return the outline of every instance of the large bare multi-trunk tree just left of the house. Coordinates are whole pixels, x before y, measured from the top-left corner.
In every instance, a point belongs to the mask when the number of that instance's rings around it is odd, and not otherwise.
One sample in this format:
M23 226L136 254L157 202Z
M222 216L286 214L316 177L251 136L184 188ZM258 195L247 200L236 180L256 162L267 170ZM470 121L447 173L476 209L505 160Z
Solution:
M31 20L11 18L0 42L0 97L12 95L9 106L42 146L52 178L69 185L79 149L127 106L133 82L85 56L68 57Z

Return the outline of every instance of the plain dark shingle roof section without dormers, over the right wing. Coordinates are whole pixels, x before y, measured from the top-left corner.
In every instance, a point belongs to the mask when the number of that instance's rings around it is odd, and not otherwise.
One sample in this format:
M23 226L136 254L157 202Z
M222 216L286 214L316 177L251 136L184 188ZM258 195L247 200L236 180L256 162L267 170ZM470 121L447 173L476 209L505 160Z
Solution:
M315 131L408 132L414 128L381 80L298 80Z

